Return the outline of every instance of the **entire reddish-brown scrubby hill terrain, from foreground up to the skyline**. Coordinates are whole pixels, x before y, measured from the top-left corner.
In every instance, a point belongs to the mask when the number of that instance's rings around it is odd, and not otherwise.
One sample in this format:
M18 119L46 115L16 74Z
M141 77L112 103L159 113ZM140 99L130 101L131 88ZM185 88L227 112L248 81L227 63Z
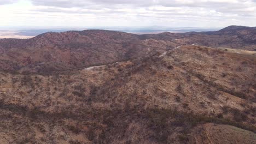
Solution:
M2 39L0 143L256 143L252 29Z

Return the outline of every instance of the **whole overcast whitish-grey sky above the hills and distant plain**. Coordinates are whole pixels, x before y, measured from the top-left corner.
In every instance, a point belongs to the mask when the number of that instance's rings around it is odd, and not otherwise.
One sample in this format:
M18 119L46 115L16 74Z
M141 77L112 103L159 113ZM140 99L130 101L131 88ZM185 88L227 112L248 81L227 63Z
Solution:
M256 0L0 0L0 26L256 26Z

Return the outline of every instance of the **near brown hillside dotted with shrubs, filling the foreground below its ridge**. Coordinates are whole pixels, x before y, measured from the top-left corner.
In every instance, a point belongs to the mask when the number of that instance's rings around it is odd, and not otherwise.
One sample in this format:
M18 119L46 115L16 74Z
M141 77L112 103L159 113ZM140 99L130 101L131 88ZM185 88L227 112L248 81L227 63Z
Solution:
M61 74L1 72L0 143L255 143L255 65L181 46Z

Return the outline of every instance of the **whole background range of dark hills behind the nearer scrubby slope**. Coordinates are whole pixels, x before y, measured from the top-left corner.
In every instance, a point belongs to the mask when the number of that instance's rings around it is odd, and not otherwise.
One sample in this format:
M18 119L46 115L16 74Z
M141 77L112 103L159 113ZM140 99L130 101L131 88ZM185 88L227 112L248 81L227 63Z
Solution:
M0 66L11 73L51 74L142 58L182 45L254 50L254 27L230 26L217 32L136 35L85 30L44 33L31 39L0 39Z

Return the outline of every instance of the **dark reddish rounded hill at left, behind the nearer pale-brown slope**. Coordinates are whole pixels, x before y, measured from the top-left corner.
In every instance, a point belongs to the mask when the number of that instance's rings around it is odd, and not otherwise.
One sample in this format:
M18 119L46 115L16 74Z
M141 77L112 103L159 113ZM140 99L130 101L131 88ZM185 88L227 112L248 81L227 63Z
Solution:
M144 57L174 46L170 41L139 40L123 32L45 33L32 39L0 39L0 65L15 73L50 74Z

